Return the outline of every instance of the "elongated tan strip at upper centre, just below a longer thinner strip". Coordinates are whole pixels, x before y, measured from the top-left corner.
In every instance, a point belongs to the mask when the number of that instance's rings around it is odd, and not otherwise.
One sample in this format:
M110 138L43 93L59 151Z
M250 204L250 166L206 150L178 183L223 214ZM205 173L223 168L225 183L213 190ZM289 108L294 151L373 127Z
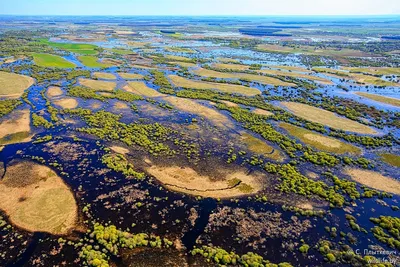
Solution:
M211 83L203 81L189 80L177 75L169 75L169 79L176 87L191 88L191 89L215 89L224 93L237 93L247 96L261 94L260 90L242 85Z

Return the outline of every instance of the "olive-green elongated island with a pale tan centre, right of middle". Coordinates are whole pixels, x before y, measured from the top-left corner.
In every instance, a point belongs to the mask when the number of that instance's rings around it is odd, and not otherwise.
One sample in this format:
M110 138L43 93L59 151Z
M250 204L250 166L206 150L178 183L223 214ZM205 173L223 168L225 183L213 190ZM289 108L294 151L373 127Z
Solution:
M279 124L279 126L285 129L290 135L298 138L301 142L318 150L336 154L361 154L360 148L335 138L327 137L289 123L282 122Z

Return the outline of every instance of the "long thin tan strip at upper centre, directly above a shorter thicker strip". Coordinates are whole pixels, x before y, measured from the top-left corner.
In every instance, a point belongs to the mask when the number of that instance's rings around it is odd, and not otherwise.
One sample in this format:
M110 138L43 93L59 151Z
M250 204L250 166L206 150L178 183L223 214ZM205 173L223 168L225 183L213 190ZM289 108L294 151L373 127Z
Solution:
M199 68L193 71L193 73L203 76L203 77L213 77L213 78L221 78L221 79L242 79L254 82L260 82L264 84L270 84L274 86L295 86L293 83L288 83L281 81L276 78L261 76L255 74L247 74L247 73L231 73L231 72L219 72L214 70L208 70Z

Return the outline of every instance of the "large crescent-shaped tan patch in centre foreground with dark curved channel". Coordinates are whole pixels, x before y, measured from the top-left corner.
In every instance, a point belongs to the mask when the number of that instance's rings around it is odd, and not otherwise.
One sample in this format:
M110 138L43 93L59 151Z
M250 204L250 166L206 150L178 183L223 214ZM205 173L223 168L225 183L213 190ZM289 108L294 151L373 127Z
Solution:
M262 189L262 175L246 170L220 170L218 179L201 174L190 167L152 166L146 170L168 189L185 194L229 198L254 194Z

